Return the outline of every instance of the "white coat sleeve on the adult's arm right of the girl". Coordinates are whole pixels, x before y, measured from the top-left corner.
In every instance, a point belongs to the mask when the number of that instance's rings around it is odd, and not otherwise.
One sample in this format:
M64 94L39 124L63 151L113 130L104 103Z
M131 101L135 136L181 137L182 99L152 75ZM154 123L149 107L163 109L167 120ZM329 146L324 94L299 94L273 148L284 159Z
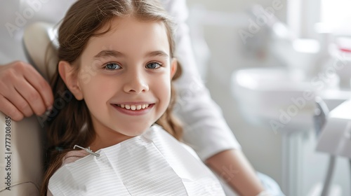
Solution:
M240 149L222 111L201 82L186 24L185 0L164 0L164 5L177 24L176 57L182 64L183 75L175 83L178 94L175 112L184 124L185 143L194 148L201 160L228 149Z

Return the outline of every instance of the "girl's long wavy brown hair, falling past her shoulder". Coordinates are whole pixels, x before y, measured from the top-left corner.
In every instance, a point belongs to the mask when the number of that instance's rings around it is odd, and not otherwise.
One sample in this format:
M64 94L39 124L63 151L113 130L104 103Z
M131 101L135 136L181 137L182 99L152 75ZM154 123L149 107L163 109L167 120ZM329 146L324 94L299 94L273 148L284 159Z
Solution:
M171 57L174 57L175 43L173 39L173 23L171 18L157 0L78 0L67 11L58 31L58 59L69 62L74 69L79 69L79 57L86 48L89 38L100 36L103 27L110 25L113 18L123 18L132 15L145 22L163 22L170 45ZM107 26L109 27L109 26ZM181 67L172 80L179 78ZM57 169L62 166L62 160L74 145L89 146L95 138L95 131L88 108L84 100L77 100L69 92L67 86L58 74L58 69L52 78L51 87L58 101L58 109L53 109L48 116L46 173L41 186L41 195L46 195L48 181ZM166 112L157 120L157 124L180 139L182 127L172 115L175 104L175 90L171 88L171 102ZM60 101L60 102L59 102Z

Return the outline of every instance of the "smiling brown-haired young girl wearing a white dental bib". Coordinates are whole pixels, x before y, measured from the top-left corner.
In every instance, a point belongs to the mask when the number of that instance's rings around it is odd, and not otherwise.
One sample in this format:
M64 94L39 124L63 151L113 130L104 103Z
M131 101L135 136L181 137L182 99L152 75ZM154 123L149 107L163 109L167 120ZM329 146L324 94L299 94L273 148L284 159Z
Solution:
M48 119L41 195L224 195L176 140L171 80L181 71L157 0L79 0L58 35L52 86L69 101Z

